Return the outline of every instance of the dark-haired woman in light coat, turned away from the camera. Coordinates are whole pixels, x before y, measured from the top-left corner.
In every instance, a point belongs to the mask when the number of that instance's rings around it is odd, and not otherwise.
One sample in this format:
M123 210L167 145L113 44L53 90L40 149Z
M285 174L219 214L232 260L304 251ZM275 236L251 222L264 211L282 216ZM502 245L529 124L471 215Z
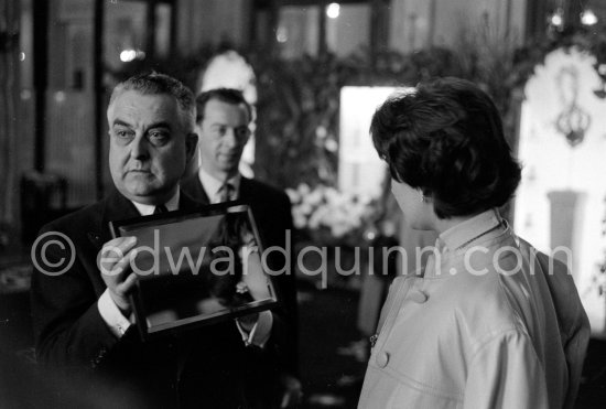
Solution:
M391 286L359 407L572 407L588 321L566 266L499 215L520 166L491 99L436 79L390 97L370 132L404 219L439 239Z

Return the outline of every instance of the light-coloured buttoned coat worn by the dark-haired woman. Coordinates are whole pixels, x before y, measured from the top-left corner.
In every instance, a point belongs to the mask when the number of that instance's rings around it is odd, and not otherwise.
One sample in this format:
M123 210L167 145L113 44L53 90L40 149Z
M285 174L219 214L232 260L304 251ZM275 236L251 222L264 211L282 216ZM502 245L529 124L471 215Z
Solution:
M572 408L589 324L566 266L495 212L441 239L391 286L358 407Z

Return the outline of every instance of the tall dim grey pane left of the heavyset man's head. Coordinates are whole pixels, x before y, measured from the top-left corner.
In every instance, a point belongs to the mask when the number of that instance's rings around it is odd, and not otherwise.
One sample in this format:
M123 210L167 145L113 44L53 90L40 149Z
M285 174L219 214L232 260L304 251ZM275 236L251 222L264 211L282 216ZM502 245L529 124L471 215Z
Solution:
M96 195L91 183L94 6L94 0L52 0L48 4L44 171L67 181L67 207L88 204Z

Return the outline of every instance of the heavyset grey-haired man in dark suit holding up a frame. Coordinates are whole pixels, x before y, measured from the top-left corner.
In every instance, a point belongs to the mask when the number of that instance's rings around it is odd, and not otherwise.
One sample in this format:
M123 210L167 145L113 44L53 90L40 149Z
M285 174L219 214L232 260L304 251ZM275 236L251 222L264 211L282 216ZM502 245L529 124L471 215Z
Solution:
M256 369L250 359L270 359L279 349L279 320L264 312L141 342L128 302L138 280L129 265L137 241L111 239L108 226L197 206L178 189L197 141L194 96L169 76L140 75L116 87L107 114L117 190L46 225L40 236L43 262L32 279L39 362L90 377L91 389L102 379L104 387L128 390L145 408L249 407L255 402L247 383ZM59 239L65 243L57 245Z

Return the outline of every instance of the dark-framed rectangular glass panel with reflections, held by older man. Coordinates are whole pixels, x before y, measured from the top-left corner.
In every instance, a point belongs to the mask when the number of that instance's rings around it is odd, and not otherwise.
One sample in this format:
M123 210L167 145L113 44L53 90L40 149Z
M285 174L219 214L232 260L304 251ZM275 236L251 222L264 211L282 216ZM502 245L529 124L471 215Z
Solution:
M132 302L143 335L239 316L275 302L248 206L167 215L127 220L115 229L138 239L130 266L139 276Z

